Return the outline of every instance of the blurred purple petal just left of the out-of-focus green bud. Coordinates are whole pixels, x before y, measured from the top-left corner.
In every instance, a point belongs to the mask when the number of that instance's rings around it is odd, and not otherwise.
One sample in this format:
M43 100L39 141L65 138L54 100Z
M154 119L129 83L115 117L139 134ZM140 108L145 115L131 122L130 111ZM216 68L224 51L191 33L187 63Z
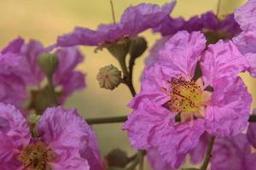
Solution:
M37 86L44 79L44 72L38 65L38 58L44 52L41 42L35 40L31 40L21 48L20 55L22 57L15 72L22 77L26 84Z

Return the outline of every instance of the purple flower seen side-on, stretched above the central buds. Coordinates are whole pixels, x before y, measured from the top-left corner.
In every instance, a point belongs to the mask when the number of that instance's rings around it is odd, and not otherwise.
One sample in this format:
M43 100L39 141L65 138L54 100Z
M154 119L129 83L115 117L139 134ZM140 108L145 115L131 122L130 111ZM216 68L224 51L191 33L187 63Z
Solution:
M166 3L163 7L142 3L127 8L119 23L100 25L96 31L76 27L73 32L58 37L57 46L102 46L105 43L116 42L122 37L136 37L142 31L159 26L160 22L165 20L172 12L175 3L175 1L172 1L172 3Z

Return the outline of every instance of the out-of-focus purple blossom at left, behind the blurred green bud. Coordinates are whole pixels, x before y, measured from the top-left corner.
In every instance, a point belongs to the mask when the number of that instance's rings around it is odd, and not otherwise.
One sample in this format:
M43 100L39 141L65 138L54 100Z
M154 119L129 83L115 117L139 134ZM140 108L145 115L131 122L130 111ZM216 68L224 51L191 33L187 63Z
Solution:
M35 40L24 43L22 38L16 38L0 54L0 101L19 105L27 98L26 87L40 87L45 74L38 65L40 54L47 48ZM79 49L58 48L55 51L59 59L53 81L56 87L61 87L61 101L75 90L85 87L84 74L75 71L75 67L83 61ZM3 73L2 73L3 72Z

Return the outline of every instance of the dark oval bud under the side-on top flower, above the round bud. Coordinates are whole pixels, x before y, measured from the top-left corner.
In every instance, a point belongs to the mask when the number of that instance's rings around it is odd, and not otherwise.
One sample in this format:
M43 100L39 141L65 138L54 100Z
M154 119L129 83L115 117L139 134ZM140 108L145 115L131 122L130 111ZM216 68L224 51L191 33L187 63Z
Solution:
M130 39L129 54L131 58L136 59L141 56L148 48L148 43L143 37L133 37Z

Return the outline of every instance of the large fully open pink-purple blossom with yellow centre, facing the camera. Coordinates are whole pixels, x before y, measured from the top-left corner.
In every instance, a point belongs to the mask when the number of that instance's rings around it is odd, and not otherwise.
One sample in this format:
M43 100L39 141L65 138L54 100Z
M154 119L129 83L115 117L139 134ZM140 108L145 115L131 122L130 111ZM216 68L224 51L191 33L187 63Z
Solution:
M200 32L179 31L167 41L158 62L145 68L123 127L134 148L155 148L171 167L180 166L203 133L229 136L247 127L252 97L237 77L247 60L232 42L205 48Z

